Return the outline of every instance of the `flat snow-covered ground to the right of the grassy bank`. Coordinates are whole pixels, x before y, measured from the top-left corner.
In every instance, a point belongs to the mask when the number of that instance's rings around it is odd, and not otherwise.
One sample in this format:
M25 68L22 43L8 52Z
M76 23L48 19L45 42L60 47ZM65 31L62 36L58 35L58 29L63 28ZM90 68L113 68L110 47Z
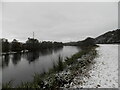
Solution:
M88 72L90 77L74 88L118 88L118 45L100 45L97 51L99 56Z

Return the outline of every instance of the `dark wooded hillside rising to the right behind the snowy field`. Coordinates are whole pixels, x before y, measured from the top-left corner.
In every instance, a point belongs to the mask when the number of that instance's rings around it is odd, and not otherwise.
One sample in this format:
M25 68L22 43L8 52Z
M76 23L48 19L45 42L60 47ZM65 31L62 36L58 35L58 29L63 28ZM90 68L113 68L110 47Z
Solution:
M83 41L67 42L64 45L68 46L88 46L94 44L118 44L120 43L120 29L108 31L96 38L88 37Z

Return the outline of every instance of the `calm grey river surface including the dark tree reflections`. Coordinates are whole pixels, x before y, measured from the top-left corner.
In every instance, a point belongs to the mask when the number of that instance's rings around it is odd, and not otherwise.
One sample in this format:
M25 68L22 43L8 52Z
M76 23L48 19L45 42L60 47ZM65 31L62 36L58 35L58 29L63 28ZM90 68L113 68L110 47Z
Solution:
M3 60L3 83L10 80L14 85L21 81L31 81L34 73L42 73L53 67L53 62L57 62L58 56L70 57L80 49L75 46L64 46L54 50L44 52L29 52L24 54L12 54L2 56Z

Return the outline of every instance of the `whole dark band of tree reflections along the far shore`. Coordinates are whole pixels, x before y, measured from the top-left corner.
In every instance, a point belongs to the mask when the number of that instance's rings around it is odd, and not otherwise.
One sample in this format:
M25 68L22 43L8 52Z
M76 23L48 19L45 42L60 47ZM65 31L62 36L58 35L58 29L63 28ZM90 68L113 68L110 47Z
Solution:
M36 60L39 60L40 56L46 56L46 55L51 55L53 53L57 53L60 50L62 50L63 47L57 47L57 48L51 48L51 49L44 49L41 51L36 51L36 52L27 52L27 53L14 53L14 54L6 54L2 56L2 67L4 68L5 66L9 65L9 62L13 63L13 65L17 65L20 61L21 58L24 58L29 62L34 62Z

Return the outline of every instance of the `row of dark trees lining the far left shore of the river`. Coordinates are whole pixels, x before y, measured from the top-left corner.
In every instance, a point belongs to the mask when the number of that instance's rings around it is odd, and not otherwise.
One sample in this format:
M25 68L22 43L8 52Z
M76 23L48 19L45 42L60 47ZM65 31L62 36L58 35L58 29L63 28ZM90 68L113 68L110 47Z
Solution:
M2 38L2 52L21 52L21 51L38 51L44 49L51 49L57 47L63 47L62 42L51 42L51 41L39 41L34 38L28 38L25 43L19 42L16 39L13 39L12 42L9 42L7 39Z

